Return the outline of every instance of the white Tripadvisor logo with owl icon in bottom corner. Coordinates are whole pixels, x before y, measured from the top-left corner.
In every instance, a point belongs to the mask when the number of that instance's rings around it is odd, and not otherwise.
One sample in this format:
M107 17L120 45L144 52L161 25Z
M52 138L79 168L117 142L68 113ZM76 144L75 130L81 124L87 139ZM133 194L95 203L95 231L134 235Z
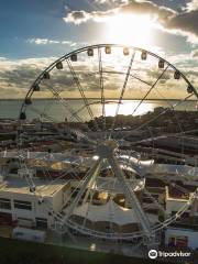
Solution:
M148 251L148 257L154 260L156 257L189 257L191 255L190 252L182 252L182 251L174 251L174 252L165 252L165 251L156 251L151 250Z

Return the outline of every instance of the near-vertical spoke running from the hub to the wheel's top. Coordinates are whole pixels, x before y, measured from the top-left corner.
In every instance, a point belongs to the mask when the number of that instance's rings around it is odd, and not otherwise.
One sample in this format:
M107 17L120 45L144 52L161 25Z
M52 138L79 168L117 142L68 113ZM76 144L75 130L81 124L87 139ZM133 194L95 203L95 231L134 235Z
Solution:
M101 48L98 48L98 59L99 59L99 75L100 75L100 90L101 90L101 105L102 105L102 129L106 131L106 98L105 98L105 89L103 89L103 68L102 68L102 59L101 59Z

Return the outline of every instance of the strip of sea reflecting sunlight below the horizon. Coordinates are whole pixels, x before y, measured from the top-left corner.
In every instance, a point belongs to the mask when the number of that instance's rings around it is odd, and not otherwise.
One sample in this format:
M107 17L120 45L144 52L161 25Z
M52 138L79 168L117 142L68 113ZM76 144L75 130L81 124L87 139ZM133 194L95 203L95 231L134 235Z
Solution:
M108 103L106 103L106 116L114 116L118 100L108 99ZM95 117L99 117L102 113L102 107L99 100L90 99L89 102L91 111ZM157 107L170 107L177 105L178 100L146 100L144 101L138 110L134 112L134 116L141 116L148 111L153 111ZM79 111L78 116L87 121L90 119L87 109L84 107L84 102L81 99L69 99L67 103L74 111ZM119 114L132 114L136 106L139 105L139 100L123 100L120 105ZM20 109L22 106L22 100L0 100L0 119L18 119L20 114ZM197 111L197 101L185 101L175 107L176 110L186 110L186 111ZM38 118L42 113L52 117L55 121L64 121L66 118L69 120L70 113L64 103L61 103L57 100L52 99L34 99L32 106L28 107L26 116L29 120L34 118ZM75 119L74 119L75 121Z

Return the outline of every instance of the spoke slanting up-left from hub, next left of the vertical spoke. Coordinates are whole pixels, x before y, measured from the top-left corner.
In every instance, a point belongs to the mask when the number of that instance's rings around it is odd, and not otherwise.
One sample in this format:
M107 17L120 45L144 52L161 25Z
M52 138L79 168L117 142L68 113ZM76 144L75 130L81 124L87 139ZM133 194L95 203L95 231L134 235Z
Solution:
M90 108L90 106L89 106L89 102L88 102L88 100L87 100L87 97L85 96L85 92L84 92L84 89L82 89L82 87L81 87L81 85L80 85L79 78L77 77L76 72L75 72L75 69L74 69L70 61L69 61L69 59L66 59L66 62L67 62L67 65L68 65L68 67L69 67L70 73L72 73L73 80L74 80L74 82L76 84L76 86L77 86L77 88L78 88L78 90L79 90L79 92L80 92L80 96L81 96L81 98L82 98L82 100L84 100L84 103L85 103L85 106L86 106L86 108L87 108L87 111L88 111L91 120L94 121L95 128L96 128L96 130L98 130L98 123L97 123L97 121L96 121L96 119L95 119L95 116L94 116L92 110L91 110L91 108Z

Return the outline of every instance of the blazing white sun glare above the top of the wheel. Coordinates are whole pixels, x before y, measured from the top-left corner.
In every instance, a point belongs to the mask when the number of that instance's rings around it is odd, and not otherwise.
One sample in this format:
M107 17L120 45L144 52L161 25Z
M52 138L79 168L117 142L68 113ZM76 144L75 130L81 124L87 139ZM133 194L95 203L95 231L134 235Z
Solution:
M148 15L117 14L107 22L106 38L110 43L148 47L154 21Z

